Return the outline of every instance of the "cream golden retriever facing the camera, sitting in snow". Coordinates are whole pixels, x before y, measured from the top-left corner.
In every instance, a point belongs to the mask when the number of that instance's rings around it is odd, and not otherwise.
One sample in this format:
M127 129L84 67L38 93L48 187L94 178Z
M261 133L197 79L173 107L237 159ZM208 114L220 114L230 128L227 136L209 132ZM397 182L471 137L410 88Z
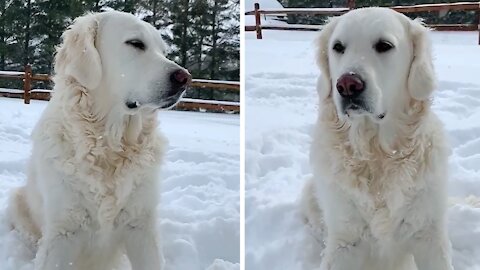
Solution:
M302 209L326 234L320 269L452 269L450 150L430 106L428 29L365 8L331 20L317 42L320 113Z

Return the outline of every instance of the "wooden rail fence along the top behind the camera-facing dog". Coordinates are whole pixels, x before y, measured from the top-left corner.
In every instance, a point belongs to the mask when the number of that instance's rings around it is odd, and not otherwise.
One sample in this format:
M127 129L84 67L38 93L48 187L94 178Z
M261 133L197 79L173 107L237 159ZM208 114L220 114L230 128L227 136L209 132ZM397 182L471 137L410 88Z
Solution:
M318 31L321 25L264 25L261 24L261 15L279 14L302 14L302 15L342 15L355 8L355 0L347 0L346 8L282 8L261 9L260 4L255 3L253 11L245 12L245 15L255 16L255 25L245 26L245 31L255 31L257 39L262 39L262 30L293 30L293 31ZM480 44L480 2L458 2L444 4L425 4L414 6L389 7L401 13L414 12L448 12L448 11L475 11L476 24L430 24L429 27L436 31L478 31L478 44Z

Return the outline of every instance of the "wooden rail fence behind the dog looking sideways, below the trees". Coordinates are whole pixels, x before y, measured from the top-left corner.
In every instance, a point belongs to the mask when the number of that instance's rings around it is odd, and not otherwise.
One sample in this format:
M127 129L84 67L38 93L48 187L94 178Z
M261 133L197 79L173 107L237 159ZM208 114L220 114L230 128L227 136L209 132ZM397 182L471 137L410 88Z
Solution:
M25 66L25 71L0 71L0 79L2 78L23 80L23 90L0 88L0 97L23 98L25 104L30 104L31 99L50 100L51 94L53 93L52 90L32 89L32 82L51 81L52 78L47 74L33 74L30 65ZM240 92L240 83L193 79L190 88L198 89L198 91L205 88L213 88L222 91ZM238 113L240 112L240 103L185 98L180 100L174 109Z

